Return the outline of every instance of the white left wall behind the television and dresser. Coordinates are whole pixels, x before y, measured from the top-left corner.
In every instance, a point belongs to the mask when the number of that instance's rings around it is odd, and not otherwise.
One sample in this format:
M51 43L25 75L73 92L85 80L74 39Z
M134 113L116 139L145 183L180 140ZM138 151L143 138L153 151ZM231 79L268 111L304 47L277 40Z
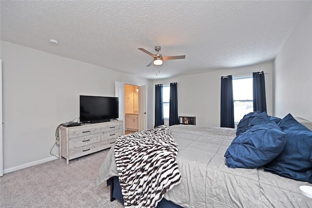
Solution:
M115 96L115 81L147 85L153 93L147 79L5 41L1 59L4 172L54 159L56 128L79 117L79 95Z

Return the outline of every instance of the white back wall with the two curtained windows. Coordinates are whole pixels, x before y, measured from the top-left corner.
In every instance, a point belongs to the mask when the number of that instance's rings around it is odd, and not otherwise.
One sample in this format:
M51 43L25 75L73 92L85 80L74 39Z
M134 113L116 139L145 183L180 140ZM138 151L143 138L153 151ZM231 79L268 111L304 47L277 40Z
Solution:
M178 82L178 114L196 116L196 125L218 127L220 126L220 77L228 75L232 75L233 77L252 75L253 72L261 71L267 72L267 74L264 75L266 85L267 112L269 115L272 115L273 62L195 75L177 76L168 79L158 79L153 83L154 95L156 84L169 84L170 82ZM153 103L155 105L155 101Z

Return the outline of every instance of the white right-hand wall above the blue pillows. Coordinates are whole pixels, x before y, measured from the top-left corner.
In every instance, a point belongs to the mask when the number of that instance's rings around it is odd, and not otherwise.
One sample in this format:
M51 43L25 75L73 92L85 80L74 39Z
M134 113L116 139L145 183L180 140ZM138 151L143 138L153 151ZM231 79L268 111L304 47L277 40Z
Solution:
M276 116L312 120L312 6L275 58Z

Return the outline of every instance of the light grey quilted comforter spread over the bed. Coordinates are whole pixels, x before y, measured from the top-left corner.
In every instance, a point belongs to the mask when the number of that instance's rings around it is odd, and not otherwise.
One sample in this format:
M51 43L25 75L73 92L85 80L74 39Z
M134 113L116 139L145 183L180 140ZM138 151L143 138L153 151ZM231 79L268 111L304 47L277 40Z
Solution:
M312 122L296 119L312 129ZM236 129L194 125L168 128L179 147L176 162L181 182L163 196L161 203L173 203L167 207L306 208L312 205L312 199L302 195L299 189L303 185L311 186L309 182L281 177L264 171L263 167L245 169L226 166L224 154L236 137ZM113 186L114 177L114 187L118 187L112 147L98 172L96 185L108 182ZM116 193L115 198L118 198Z

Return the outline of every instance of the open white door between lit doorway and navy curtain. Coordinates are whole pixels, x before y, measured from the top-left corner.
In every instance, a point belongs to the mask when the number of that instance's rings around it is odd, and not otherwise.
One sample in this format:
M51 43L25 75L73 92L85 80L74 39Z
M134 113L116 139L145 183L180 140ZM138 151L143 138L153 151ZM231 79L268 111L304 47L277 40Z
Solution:
M138 87L138 131L147 129L146 85Z

